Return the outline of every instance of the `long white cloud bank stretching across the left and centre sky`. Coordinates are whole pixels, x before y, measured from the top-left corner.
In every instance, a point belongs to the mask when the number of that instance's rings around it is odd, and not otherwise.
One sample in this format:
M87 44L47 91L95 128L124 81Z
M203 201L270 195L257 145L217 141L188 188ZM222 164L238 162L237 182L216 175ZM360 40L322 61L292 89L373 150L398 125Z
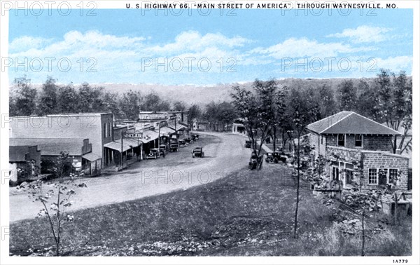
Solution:
M229 58L235 58L239 63L244 55L242 55L238 47L244 46L250 42L241 36L228 37L220 33L200 34L199 32L181 32L176 38L167 43L158 46L151 43L150 38L143 36L115 36L102 34L98 31L78 32L71 31L64 34L63 39L48 43L46 46L27 46L27 48L10 50L10 57L18 58L19 62L28 58L29 64L33 58L41 58L44 62L43 71L41 73L52 76L62 75L63 72L57 72L57 63L60 59L65 58L71 61L71 72L66 72L67 79L71 76L89 76L85 73L87 67L93 63L85 62L83 69L80 70L80 58L93 57L97 62L93 69L97 70L104 79L109 74L113 75L113 79L122 76L139 76L142 74L142 59L151 58L153 62L165 62L173 58L181 58L187 63L186 58L193 57L195 67L197 62L204 58L211 61L211 72L220 72L218 65L221 58L226 62ZM52 62L52 71L48 69L45 58L55 58ZM36 64L38 65L38 64ZM31 65L29 65L29 68ZM223 66L224 67L224 66ZM36 68L36 67L34 67ZM21 67L22 69L22 67ZM159 70L164 69L160 67ZM185 64L188 71L187 64ZM31 69L29 69L30 71ZM56 71L55 71L56 70ZM149 72L155 72L152 65L147 69ZM50 72L45 72L50 71ZM37 72L38 73L38 72Z

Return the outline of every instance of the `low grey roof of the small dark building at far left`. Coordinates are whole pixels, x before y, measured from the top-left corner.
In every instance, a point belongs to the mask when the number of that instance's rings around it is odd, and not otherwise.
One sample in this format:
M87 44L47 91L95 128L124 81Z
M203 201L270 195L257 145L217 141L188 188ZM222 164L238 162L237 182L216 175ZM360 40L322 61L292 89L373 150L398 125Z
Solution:
M10 138L9 146L37 145L41 156L59 156L61 151L70 156L81 156L82 138Z

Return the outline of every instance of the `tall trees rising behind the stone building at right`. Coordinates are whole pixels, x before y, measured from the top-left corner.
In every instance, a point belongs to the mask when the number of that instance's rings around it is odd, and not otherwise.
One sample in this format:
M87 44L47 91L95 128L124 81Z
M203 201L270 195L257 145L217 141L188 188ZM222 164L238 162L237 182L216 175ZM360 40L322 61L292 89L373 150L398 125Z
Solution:
M251 88L234 86L232 90L232 103L251 140L271 137L274 149L277 138L284 144L300 136L309 123L339 111L354 111L400 130L401 140L395 137L392 142L393 153L412 148L407 137L412 129L412 79L405 72L381 69L374 79L344 79L335 89L299 80L291 86L255 80ZM260 146L254 150L259 154Z

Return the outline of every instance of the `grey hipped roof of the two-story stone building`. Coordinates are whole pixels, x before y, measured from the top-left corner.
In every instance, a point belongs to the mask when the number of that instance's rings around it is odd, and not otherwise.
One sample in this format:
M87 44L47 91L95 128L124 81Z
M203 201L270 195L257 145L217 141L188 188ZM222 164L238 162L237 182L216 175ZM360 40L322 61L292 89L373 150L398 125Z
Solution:
M400 135L400 132L353 111L341 111L307 125L319 134Z

